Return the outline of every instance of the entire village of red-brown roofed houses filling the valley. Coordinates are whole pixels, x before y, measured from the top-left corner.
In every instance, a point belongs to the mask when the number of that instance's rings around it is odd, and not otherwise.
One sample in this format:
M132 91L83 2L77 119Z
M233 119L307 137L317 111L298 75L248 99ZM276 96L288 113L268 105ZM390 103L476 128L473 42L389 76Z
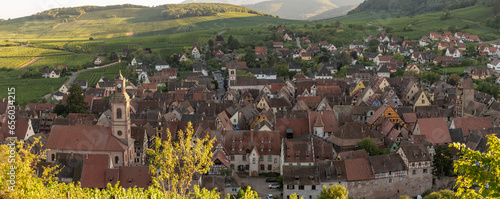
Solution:
M191 123L195 137L216 139L214 165L192 182L222 195L250 185L259 194L316 198L323 185L340 184L356 198L397 198L452 189L433 172L436 151L460 142L484 152L485 136L500 132L499 91L479 86L500 84L500 41L449 31L412 41L379 32L335 46L287 27L274 31L279 37L253 48L218 35L156 62L144 60L148 50L124 49L122 66L136 77L120 72L95 86L75 80L51 96L54 103L17 107L16 137L42 140L50 149L44 165L65 166L59 181L147 188L146 149L168 130L177 139ZM465 70L436 72L449 67ZM42 73L60 78L66 70ZM71 86L81 87L88 109L57 114L71 103ZM3 143L7 104L0 101ZM377 150L363 148L366 142ZM248 180L257 176L264 177Z

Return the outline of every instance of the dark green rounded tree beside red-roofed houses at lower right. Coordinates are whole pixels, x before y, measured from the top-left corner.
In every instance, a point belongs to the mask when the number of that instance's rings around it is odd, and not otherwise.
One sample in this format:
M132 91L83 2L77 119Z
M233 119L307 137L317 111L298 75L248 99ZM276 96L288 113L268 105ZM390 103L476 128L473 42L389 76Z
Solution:
M453 176L453 160L450 149L446 146L438 146L436 155L432 160L432 173L435 176Z

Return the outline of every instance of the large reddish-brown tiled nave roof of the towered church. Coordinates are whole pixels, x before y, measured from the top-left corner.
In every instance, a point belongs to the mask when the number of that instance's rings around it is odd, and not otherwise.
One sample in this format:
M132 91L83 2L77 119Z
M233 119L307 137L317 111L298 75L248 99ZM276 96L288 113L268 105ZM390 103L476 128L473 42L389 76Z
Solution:
M78 151L125 151L127 146L111 135L111 127L54 125L47 149Z

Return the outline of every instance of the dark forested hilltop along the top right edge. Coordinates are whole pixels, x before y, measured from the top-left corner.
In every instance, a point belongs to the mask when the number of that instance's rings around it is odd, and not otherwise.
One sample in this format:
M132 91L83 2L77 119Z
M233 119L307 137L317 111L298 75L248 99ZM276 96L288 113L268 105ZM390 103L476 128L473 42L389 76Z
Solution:
M398 12L401 15L417 15L474 5L491 6L494 1L497 0L366 0L348 14L363 11L387 11Z

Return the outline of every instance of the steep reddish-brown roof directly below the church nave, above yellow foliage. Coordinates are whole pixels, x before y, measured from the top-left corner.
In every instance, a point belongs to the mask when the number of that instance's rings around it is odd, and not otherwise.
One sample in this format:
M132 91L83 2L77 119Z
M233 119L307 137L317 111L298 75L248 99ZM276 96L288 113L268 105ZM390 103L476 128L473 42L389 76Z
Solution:
M108 154L87 154L83 157L82 187L106 188L106 170L109 168Z

